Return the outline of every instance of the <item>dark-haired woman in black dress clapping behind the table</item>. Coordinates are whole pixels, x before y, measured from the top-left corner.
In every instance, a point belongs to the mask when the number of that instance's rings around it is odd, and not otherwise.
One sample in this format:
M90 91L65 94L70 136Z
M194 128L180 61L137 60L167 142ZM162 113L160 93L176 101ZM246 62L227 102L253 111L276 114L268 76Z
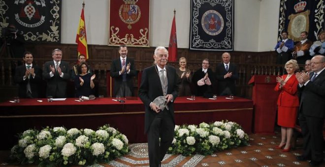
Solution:
M74 79L74 85L76 87L76 97L87 96L94 94L94 79L96 75L88 73L88 64L81 62L78 66L78 75Z

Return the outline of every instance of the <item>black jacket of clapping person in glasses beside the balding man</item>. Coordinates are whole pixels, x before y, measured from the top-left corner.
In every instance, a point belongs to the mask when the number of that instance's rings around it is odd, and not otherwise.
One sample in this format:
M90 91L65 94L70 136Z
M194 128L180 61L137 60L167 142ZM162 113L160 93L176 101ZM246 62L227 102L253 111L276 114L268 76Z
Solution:
M216 80L216 78L214 76L215 74L213 73L213 71L210 68L208 68L207 73L208 73L208 77L211 82L211 85L207 85L207 84L204 84L202 86L197 85L197 81L199 81L200 79L202 79L205 76L204 72L202 71L202 68L198 69L193 74L192 82L195 85L194 94L196 96L204 96L204 97L210 97L210 96L212 97L213 96L213 86L215 85L215 80Z

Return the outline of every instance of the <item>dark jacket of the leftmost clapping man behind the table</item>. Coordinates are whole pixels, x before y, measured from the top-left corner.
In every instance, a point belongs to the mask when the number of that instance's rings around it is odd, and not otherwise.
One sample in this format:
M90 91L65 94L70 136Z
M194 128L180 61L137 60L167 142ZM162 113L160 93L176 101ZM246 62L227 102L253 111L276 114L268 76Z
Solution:
M26 74L25 63L16 68L14 81L15 83L19 84L18 93L20 98L27 97L26 92L27 92L28 81L30 81L31 84L32 97L39 98L39 90L42 82L42 70L36 65L33 65L32 68L34 68L35 77L33 78L31 75L30 79L26 78L26 80L24 80L24 76Z

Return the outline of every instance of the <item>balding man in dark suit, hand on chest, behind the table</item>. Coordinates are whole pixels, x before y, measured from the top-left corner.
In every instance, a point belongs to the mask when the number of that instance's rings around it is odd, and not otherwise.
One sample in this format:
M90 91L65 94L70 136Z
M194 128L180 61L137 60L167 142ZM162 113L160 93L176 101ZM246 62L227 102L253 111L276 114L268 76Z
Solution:
M237 66L230 63L230 54L222 54L223 62L216 67L218 81L218 95L236 95L236 80L238 79Z

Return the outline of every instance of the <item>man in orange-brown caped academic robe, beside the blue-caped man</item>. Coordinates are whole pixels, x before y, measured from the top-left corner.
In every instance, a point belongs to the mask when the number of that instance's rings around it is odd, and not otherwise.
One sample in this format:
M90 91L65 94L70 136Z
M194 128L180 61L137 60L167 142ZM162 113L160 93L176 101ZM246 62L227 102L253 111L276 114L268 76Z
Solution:
M311 59L311 56L309 56L309 49L313 43L308 40L307 37L308 32L301 32L301 41L294 45L292 55L297 60L298 64L303 64L306 60Z

